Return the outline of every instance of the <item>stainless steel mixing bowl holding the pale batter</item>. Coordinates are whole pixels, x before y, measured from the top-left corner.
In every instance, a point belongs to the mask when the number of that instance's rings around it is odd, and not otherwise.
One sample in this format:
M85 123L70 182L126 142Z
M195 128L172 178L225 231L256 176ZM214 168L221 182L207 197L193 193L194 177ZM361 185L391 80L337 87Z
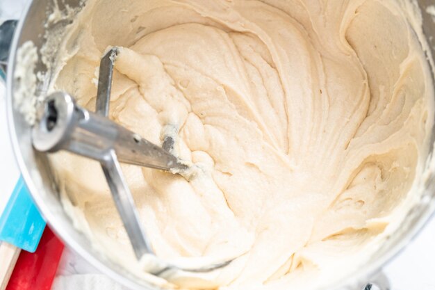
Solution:
M63 3L74 8L79 7L79 2L79 0L65 0ZM65 10L63 3L58 3L60 10ZM418 4L423 14L423 31L425 35L428 36L427 41L432 48L432 55L434 55L435 24L432 20L432 16L425 11L429 5L435 4L435 0L420 0ZM43 36L47 29L44 24L47 22L47 15L49 15L49 12L53 8L54 5L51 0L28 1L24 16L17 26L15 37L10 47L7 76L14 75L17 62L16 52L24 42L31 40L38 49L44 45L45 40ZM58 22L53 25L51 29L54 29L54 31L56 31L56 29L62 29L67 23L69 23L69 20ZM430 36L434 36L434 38ZM44 67L42 63L38 63L37 70L46 71L47 68ZM49 76L49 72L47 76ZM16 86L16 84L13 81L13 77L8 77L7 103L10 138L13 143L19 169L22 172L28 189L51 228L54 229L69 248L72 248L79 255L88 260L90 264L98 268L102 273L113 277L113 279L124 284L126 287L130 287L131 289L158 289L155 285L149 284L139 277L136 277L136 275L129 273L92 248L88 238L74 228L72 220L65 214L60 204L58 188L56 188L54 175L46 162L46 156L38 154L38 152L33 150L31 145L31 128L24 122L22 115L15 109L13 97L14 86ZM40 85L41 90L44 90L43 86L43 84ZM433 135L435 136L435 134ZM434 136L432 136L432 139L434 139ZM432 216L435 209L434 193L435 175L432 174L427 181L422 200L409 212L402 227L384 243L366 265L359 268L359 270L352 273L352 275L347 276L346 279L339 284L329 285L329 287L324 289L364 289L366 284L373 282L373 280L376 280L374 282L376 282L381 289L388 289L387 283L383 280L379 280L379 270L387 261L393 259L393 256L404 248L404 246L413 239L413 236L416 236L423 225L425 225L427 220Z

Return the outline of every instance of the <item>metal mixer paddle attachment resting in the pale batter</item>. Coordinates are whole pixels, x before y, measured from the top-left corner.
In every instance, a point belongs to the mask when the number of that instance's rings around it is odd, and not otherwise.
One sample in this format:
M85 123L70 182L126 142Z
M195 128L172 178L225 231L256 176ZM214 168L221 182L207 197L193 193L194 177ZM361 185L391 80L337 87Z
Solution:
M117 48L110 49L99 67L96 113L81 108L65 92L55 92L45 99L40 121L33 127L33 147L40 152L67 150L101 163L110 191L138 260L152 261L147 271L163 275L167 271L213 271L231 262L186 267L168 264L154 255L145 230L139 223L129 187L120 162L161 170L186 169L177 157L150 143L138 134L109 120L110 89ZM41 110L42 111L42 110ZM172 147L165 140L163 147Z

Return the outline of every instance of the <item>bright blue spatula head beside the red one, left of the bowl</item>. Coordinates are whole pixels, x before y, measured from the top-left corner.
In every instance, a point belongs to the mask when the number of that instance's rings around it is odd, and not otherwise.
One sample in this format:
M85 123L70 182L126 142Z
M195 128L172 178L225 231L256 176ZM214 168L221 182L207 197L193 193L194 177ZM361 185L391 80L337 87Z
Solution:
M20 176L0 217L0 240L28 252L35 252L44 228L45 220Z

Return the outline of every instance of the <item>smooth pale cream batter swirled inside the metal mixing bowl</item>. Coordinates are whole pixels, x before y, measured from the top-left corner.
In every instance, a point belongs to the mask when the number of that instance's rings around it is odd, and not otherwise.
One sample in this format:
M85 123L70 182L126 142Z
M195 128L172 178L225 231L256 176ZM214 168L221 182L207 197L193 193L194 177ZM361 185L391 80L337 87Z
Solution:
M176 136L195 164L190 181L122 167L158 257L238 257L170 287L311 289L366 261L418 198L434 119L418 24L409 1L90 1L54 89L93 110L99 59L120 47L110 118ZM99 164L53 162L76 225L141 275Z

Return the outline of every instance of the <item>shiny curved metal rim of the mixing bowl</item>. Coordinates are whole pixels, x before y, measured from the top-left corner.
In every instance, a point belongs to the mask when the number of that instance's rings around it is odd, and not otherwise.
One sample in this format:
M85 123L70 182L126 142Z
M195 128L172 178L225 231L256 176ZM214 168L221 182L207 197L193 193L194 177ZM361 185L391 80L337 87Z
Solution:
M113 280L123 284L126 287L137 290L156 290L163 289L159 288L153 284L142 284L139 281L141 280L139 277L138 280L131 279L131 276L122 275L120 271L117 271L116 268L110 267L101 261L99 258L95 257L92 253L92 250L88 247L83 247L79 242L77 242L74 237L70 236L65 229L63 229L63 225L60 225L56 220L56 215L44 204L44 200L42 196L38 193L38 188L35 186L33 179L31 178L31 174L29 172L28 166L26 166L26 161L22 156L22 152L19 147L19 141L17 138L17 131L15 128L14 115L19 114L19 112L15 111L13 108L13 75L15 72L15 59L17 54L17 49L19 42L22 38L22 30L24 28L24 24L26 23L26 18L31 11L32 5L35 1L27 1L24 11L22 13L22 17L20 17L19 22L17 24L17 28L15 29L15 34L13 37L13 42L10 45L10 55L8 59L8 67L6 72L6 117L8 121L8 134L10 137L10 142L13 147L13 152L15 155L15 161L17 162L19 171L26 182L28 187L28 191L31 193L31 198L37 205L40 210L42 216L44 216L47 223L50 225L51 229L62 239L65 245L76 252L78 255L83 257L86 261L88 261L92 266L97 268L101 273L108 275L108 277ZM38 48L39 49L39 48ZM30 136L29 136L30 137ZM435 181L434 181L435 182ZM340 282L334 282L334 286L325 285L320 287L322 290L332 290L332 289L345 289L345 287L355 287L356 285L364 285L370 282L370 278L376 275L381 268L387 264L391 259L397 256L409 242L414 239L418 233L421 232L422 227L425 227L431 218L435 218L435 199L432 198L432 201L429 202L427 210L418 218L418 222L409 229L406 236L401 239L400 243L396 243L393 247L391 247L387 252L383 255L379 255L379 257L375 257L374 260L370 261L367 265L364 265L361 268L352 271L350 275L345 277ZM77 229L74 229L77 230ZM127 270L125 269L125 272ZM135 275L136 276L136 275ZM145 281L144 281L145 282ZM145 282L147 283L147 282ZM148 284L148 283L147 283ZM361 287L361 286L358 286Z

